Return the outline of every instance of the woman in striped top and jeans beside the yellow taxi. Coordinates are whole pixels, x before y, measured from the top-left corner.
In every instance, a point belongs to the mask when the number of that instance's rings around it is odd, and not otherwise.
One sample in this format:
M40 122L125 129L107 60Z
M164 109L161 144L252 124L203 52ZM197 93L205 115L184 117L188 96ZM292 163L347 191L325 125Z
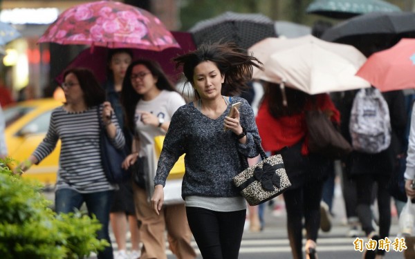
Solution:
M75 212L85 202L89 215L95 215L102 224L97 233L98 239L105 239L111 244L109 209L117 186L107 180L102 169L100 124L104 125L116 148L124 146L124 135L111 104L104 102L104 89L91 70L66 70L62 88L66 102L53 110L46 137L33 154L17 166L15 173L28 170L32 164L39 164L61 140L55 211ZM98 252L98 258L113 258L111 245Z

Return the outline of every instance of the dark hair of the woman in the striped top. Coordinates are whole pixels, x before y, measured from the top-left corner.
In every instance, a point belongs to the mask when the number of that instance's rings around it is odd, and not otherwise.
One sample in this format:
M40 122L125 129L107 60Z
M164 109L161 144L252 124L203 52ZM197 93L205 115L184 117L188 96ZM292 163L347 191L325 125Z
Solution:
M64 78L73 73L80 82L84 92L84 102L88 108L102 104L105 101L105 90L88 68L69 68L64 72Z

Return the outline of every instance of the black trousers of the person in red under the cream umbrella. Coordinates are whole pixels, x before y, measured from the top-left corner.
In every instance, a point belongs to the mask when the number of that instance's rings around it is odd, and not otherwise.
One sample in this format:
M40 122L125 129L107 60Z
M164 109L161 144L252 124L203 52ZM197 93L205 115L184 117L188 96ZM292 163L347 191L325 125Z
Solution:
M307 240L317 241L318 229L320 229L320 201L322 199L323 184L323 181L307 182L302 187L284 192L288 239L295 259L303 258L303 217L305 219Z

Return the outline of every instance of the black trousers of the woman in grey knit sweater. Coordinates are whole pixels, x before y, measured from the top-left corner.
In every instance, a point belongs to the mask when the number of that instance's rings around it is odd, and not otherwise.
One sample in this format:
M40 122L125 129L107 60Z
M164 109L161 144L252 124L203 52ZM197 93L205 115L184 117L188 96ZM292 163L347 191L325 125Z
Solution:
M237 259L246 210L211 211L186 207L187 221L203 259Z

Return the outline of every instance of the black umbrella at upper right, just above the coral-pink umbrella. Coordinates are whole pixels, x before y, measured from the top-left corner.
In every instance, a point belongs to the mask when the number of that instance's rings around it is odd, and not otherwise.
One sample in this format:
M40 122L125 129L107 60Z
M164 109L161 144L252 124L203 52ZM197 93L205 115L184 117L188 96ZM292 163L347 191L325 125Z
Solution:
M322 35L326 41L355 46L367 57L404 37L415 37L414 12L371 12L342 21Z

